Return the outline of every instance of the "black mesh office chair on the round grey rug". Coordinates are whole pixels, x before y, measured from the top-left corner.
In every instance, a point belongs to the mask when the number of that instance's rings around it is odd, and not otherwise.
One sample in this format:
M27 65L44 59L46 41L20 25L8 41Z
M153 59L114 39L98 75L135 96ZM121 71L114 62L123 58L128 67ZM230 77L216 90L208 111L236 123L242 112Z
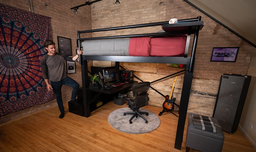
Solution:
M138 111L138 109L140 109L140 107L144 107L148 105L149 98L148 98L147 92L149 87L150 87L150 82L140 82L140 83L133 84L132 85L133 99L129 97L123 97L126 100L128 107L131 110L133 110L129 112L124 112L124 116L126 114L133 115L129 120L130 124L132 124L131 120L134 117L138 118L138 116L144 119L145 123L148 123L148 120L142 116L143 114L146 114L146 116L148 116L148 112L141 112L141 111Z

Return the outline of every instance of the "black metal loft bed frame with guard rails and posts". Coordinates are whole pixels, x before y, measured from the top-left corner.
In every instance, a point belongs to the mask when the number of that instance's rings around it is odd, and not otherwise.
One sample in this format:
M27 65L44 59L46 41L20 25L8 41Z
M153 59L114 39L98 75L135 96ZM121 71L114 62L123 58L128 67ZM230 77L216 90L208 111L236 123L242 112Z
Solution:
M86 90L86 88L89 88L87 60L115 61L115 63L116 63L115 69L117 72L119 72L120 62L184 64L184 65L186 65L186 69L183 70L183 71L185 71L185 75L184 75L184 81L183 81L183 87L182 87L182 94L181 94L181 98L180 98L178 125L177 125L175 145L174 145L175 149L179 149L179 150L181 149L185 121L186 121L186 116L187 116L189 95L190 95L190 90L191 90L191 83L192 83L192 79L193 79L195 51L196 51L196 45L197 45L197 40L198 40L198 33L199 33L199 30L201 30L202 27L204 26L203 25L204 23L203 23L203 21L201 21L200 16L198 16L197 18L193 18L193 19L178 20L178 22L183 22L183 23L169 24L169 21L165 21L165 22L155 22L155 23L147 23L147 24L138 24L138 25L129 25L129 26L120 26L120 27L78 31L79 51L81 50L80 41L103 40L103 39L121 39L121 38L131 38L131 37L149 37L149 36L154 37L154 36L179 35L179 34L187 34L188 35L184 57L94 56L94 55L85 56L85 55L79 55L79 61L80 61L81 71L82 71L83 95L85 95L83 98L84 116L85 117L88 118L90 116L90 103L86 103L86 99L85 99L85 98L88 98L88 91ZM162 26L162 29L165 30L165 32L80 38L81 33L101 32L101 31L110 31L110 30L159 26L159 25ZM193 40L191 57L188 57L188 49L189 49L189 42L190 42L191 34L194 34L194 40ZM172 75L174 75L174 74L172 74ZM153 82L155 82L155 81L153 81Z

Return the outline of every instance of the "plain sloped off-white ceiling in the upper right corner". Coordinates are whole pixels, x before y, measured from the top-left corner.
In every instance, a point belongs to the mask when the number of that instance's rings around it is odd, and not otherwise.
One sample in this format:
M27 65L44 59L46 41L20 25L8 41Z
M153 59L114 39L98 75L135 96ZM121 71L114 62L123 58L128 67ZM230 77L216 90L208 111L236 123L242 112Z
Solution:
M188 0L256 45L256 0Z

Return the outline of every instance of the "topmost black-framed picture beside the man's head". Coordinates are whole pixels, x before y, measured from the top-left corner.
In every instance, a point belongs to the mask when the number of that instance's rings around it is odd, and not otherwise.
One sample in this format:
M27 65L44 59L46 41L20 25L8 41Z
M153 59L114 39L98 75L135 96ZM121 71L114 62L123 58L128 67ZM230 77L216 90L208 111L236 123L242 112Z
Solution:
M66 37L57 36L59 53L64 53L72 56L71 39Z

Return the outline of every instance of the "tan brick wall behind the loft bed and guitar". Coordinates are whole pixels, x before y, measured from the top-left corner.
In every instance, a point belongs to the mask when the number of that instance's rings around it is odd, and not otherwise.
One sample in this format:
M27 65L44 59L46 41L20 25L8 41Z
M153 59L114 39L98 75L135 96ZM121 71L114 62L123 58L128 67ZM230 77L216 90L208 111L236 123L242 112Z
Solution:
M171 18L188 19L202 17L206 22L199 32L194 78L190 94L188 112L196 112L211 116L213 113L220 76L223 73L247 74L253 47L242 39L214 22L200 11L183 0L104 0L92 6L92 29L116 27L124 25L143 24L168 21ZM151 33L161 30L159 27L135 28L126 30L96 32L92 36L126 35L136 33ZM191 36L189 55L193 43ZM236 62L210 62L213 47L240 47ZM182 68L167 67L166 64L121 62L123 67L134 70L134 74L143 81L153 81ZM179 103L184 74L178 75L175 83L174 97ZM152 83L164 95L169 95L174 77ZM150 105L162 107L164 97L149 90Z

